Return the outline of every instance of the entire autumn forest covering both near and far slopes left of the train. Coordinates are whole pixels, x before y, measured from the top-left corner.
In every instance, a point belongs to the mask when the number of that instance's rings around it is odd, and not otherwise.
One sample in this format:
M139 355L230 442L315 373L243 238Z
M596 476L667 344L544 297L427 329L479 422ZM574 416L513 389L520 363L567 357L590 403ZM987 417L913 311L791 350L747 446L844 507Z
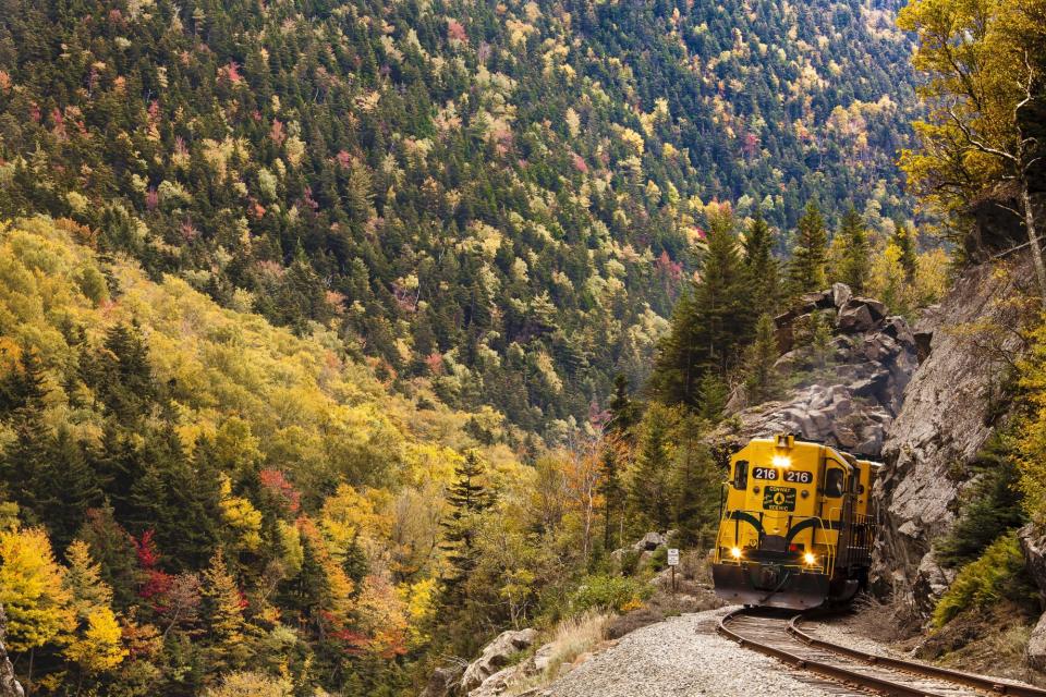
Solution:
M31 694L416 694L641 607L774 314L944 289L893 4L0 0Z

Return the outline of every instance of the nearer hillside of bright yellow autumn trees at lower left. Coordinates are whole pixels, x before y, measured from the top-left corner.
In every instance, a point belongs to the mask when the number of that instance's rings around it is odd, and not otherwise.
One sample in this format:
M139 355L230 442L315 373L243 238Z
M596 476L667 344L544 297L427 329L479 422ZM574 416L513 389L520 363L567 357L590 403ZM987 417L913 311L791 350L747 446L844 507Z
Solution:
M94 242L0 227L0 604L23 680L195 695L251 662L394 684L382 665L430 640L461 453L508 510L531 486L466 432L500 417L397 396L331 332L222 309Z

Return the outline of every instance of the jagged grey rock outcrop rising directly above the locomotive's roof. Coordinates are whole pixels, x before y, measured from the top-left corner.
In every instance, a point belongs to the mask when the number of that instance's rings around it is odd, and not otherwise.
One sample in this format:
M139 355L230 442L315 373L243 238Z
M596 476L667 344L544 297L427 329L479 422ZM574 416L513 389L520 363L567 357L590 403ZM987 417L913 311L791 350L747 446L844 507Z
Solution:
M781 401L741 409L742 398L734 395L727 405L735 413L734 426L719 429L713 440L733 448L751 438L792 432L878 457L917 364L914 335L902 317L887 317L883 303L855 297L842 283L803 302L776 320L778 341L789 350L777 368L789 375L811 369L811 348L792 348L792 328L812 313L834 319L829 365L815 374L813 383L801 384Z

